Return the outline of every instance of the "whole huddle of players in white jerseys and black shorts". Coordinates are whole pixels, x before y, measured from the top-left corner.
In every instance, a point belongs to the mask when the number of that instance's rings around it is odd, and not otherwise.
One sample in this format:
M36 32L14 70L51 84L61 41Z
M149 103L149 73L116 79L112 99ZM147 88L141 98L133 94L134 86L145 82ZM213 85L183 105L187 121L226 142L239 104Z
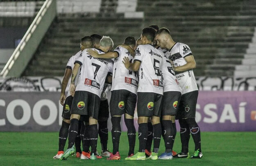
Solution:
M167 28L151 25L142 30L140 38L127 37L113 51L113 40L97 34L82 38L80 46L81 51L69 59L63 77L63 121L59 151L54 159L63 160L75 154L80 159L120 159L123 114L129 144L125 160L189 158L190 133L195 143L191 158L202 158L200 129L195 121L196 63L188 45L174 42ZM105 92L109 84L110 102ZM139 148L134 153L136 106ZM112 153L107 148L109 112ZM180 124L180 153L172 150L177 133L175 119ZM96 150L98 135L101 154ZM161 137L165 152L158 155ZM67 138L68 148L64 152Z

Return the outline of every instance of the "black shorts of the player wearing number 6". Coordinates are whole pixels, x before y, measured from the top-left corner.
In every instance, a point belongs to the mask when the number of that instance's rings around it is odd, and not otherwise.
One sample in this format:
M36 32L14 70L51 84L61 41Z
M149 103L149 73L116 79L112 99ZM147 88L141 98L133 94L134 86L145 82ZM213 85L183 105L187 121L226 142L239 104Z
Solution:
M140 116L161 117L163 95L152 92L138 92L137 113Z

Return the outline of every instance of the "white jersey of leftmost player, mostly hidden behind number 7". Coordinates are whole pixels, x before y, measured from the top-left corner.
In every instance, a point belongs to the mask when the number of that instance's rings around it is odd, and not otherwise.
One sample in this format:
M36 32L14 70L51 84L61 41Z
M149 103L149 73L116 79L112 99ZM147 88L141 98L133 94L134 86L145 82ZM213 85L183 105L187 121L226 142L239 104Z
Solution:
M79 55L81 55L81 54L82 54L82 51L79 51L79 52L77 52L75 55L73 55L72 57L70 57L69 60L68 60L68 63L67 63L66 68L73 70L73 68L74 68L74 66L75 66L75 64L74 64L74 63L75 63L75 60L76 60L76 59L79 57ZM81 69L79 68L79 70L78 70L78 72L77 72L77 77L75 78L75 86L77 86L78 77L79 77L79 75L80 75L80 70L81 70ZM71 82L71 77L69 78L69 80L68 80L68 85L67 85L67 87L66 87L66 91L68 91L68 92L67 92L67 93L68 93L67 97L71 95L70 92L69 92L70 82Z

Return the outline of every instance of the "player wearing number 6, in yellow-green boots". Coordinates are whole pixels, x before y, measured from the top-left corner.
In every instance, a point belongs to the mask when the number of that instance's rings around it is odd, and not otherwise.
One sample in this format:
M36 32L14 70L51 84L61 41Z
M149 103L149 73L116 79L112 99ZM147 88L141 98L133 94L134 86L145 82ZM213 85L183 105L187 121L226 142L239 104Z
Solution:
M150 117L153 124L154 150L149 159L158 159L157 154L161 139L161 101L163 98L163 82L161 78L160 66L162 65L164 54L158 51L152 42L156 31L151 27L146 27L141 33L141 44L135 51L134 63L131 64L129 58L123 58L125 67L130 71L139 70L138 84L138 138L139 151L134 156L127 157L128 160L145 160L145 146L147 142L148 127L147 122Z

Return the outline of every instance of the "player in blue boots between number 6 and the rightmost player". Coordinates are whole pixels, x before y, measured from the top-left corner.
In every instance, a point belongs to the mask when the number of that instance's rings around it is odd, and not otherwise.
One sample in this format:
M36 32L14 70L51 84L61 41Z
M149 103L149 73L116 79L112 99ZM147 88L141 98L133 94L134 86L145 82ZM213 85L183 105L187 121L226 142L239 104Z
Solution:
M165 142L165 153L159 159L172 159L172 147L177 133L175 125L175 115L178 111L178 104L181 97L181 87L178 85L177 78L170 60L163 56L161 66L163 73L163 106L162 106L162 136Z

